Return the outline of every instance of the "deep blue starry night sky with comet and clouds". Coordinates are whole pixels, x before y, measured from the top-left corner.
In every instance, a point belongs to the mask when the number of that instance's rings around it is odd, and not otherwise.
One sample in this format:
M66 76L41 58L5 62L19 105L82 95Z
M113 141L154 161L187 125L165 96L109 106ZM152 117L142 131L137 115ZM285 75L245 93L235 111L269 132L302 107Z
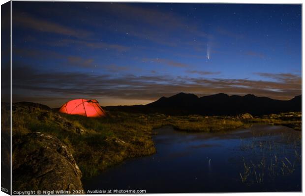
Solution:
M12 4L13 101L301 95L301 5Z

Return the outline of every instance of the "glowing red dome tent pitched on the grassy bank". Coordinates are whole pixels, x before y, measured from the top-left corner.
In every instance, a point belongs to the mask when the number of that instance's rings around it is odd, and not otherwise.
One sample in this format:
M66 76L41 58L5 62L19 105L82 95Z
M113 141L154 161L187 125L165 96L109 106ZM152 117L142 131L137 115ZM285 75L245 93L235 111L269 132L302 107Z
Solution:
M104 110L95 99L73 99L61 106L61 113L82 115L86 117L104 117Z

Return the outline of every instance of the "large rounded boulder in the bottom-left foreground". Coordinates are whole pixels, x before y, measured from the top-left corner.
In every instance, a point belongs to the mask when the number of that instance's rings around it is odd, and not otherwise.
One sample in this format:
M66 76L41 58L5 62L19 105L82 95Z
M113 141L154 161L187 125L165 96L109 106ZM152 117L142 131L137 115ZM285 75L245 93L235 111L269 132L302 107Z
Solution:
M58 138L35 132L13 141L13 191L83 190L82 172Z

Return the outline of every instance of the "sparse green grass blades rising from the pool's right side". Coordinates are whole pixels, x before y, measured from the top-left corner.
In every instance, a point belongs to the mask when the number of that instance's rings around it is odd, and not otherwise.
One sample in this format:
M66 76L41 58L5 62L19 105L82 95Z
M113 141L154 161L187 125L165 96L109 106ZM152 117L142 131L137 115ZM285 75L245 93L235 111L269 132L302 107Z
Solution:
M294 173L302 164L301 137L298 132L281 134L277 138L269 133L253 132L250 142L244 143L241 139L241 149L250 150L248 158L243 157L243 172L239 173L241 181L248 185L260 184Z

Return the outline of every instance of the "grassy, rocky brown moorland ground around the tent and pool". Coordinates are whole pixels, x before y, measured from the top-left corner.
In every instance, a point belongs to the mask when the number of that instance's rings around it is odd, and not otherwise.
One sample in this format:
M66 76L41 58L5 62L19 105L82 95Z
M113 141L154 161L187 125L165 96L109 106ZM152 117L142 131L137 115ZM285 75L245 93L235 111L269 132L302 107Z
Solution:
M107 111L106 118L65 115L48 106L13 104L13 190L83 190L91 179L127 158L156 152L155 128L170 125L187 132L225 132L253 123L284 125L301 130L300 112L252 117L171 116L160 113ZM9 107L2 103L2 131ZM293 131L293 129L292 129ZM300 139L301 140L301 139ZM59 183L61 182L61 183Z

